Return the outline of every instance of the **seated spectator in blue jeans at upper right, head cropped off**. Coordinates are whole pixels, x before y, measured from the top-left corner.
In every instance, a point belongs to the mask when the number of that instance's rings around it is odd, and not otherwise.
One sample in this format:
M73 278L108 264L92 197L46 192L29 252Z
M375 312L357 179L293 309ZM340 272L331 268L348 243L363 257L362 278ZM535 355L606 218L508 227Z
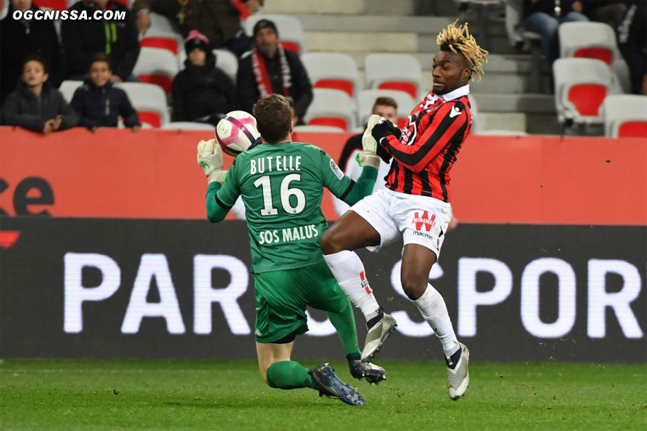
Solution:
M524 0L524 27L541 35L541 50L552 65L559 57L557 27L564 22L589 21L585 0Z

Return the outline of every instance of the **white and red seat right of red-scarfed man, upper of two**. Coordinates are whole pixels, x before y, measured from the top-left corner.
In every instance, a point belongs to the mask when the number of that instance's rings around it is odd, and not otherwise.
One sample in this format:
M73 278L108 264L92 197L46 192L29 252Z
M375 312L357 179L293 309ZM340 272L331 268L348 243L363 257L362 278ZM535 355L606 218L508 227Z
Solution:
M309 52L301 56L314 88L342 90L354 97L358 91L357 65L348 54Z

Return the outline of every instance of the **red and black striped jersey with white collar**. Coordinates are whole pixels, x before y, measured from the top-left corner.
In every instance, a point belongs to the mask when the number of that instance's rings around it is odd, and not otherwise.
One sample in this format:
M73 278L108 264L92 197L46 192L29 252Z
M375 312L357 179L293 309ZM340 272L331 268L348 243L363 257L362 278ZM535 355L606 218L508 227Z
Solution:
M394 161L387 188L449 202L449 170L472 127L469 92L470 86L446 95L430 91L411 111L401 136L381 139Z

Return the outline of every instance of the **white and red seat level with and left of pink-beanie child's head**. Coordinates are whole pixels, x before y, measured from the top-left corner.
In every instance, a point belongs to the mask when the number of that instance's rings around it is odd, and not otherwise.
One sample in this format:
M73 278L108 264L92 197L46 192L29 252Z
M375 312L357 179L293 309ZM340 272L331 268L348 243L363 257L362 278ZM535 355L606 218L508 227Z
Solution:
M177 72L177 57L167 49L159 48L142 48L133 70L138 79L160 86L167 95L173 87L173 77Z

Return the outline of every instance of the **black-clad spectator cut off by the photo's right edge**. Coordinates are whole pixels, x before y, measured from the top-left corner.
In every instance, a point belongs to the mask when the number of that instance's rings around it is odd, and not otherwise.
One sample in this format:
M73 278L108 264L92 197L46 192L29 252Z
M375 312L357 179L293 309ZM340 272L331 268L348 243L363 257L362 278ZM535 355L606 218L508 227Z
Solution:
M647 95L647 1L634 1L618 27L618 46L631 78L631 90Z

